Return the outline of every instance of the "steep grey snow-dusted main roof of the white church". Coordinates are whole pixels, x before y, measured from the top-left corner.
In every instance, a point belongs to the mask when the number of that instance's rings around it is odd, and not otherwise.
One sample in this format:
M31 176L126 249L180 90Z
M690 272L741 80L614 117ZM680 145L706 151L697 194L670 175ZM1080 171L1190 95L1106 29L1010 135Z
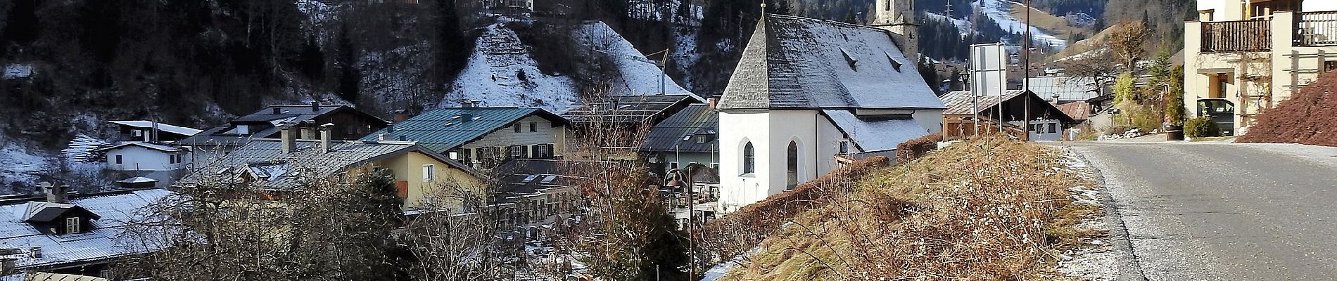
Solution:
M765 15L719 109L939 109L916 61L885 29Z

